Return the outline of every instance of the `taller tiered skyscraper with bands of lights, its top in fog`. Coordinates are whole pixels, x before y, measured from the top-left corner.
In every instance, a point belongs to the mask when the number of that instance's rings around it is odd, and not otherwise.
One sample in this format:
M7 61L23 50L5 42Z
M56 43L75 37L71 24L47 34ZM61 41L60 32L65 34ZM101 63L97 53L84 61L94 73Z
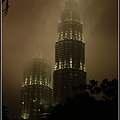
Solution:
M78 7L73 0L65 1L58 24L53 73L54 104L63 104L67 97L74 95L72 87L86 83L85 43Z

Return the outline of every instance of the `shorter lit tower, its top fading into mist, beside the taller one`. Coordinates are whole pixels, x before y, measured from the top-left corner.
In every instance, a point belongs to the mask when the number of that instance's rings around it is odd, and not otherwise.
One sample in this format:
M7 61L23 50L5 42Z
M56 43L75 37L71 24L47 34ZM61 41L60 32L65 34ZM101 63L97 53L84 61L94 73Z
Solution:
M51 64L43 58L33 58L24 68L21 88L21 117L38 120L52 105Z

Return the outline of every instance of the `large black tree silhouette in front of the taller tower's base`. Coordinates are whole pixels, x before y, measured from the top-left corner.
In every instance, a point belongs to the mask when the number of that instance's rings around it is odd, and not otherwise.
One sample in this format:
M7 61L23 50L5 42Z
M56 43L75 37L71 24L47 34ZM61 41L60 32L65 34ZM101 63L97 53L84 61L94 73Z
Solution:
M90 84L72 88L83 90L73 98L67 98L64 105L56 105L47 120L117 120L118 80L103 80L100 85L95 80ZM93 95L103 98L96 100Z

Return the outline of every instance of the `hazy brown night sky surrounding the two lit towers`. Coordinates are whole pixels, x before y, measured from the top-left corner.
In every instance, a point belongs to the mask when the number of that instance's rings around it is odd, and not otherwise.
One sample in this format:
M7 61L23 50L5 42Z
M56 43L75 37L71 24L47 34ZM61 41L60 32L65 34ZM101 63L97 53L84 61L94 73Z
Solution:
M57 25L64 0L9 0L2 18L3 103L20 115L23 66L43 54L55 61ZM87 82L117 78L117 0L80 0Z

